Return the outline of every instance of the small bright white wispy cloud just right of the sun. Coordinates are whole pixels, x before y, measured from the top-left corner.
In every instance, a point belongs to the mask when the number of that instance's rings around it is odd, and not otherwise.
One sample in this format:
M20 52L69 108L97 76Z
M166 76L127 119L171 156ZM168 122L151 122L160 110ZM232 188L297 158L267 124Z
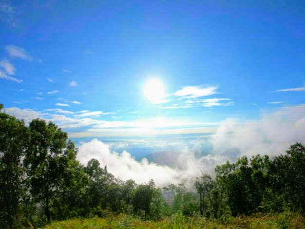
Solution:
M174 95L182 98L196 98L217 94L217 89L218 86L187 86L179 91L176 91Z

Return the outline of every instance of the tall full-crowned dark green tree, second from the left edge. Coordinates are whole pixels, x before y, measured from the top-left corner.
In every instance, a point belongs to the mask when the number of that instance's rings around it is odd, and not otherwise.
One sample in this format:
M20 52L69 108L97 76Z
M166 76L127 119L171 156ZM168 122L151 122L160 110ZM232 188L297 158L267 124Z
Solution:
M70 191L73 161L77 150L67 133L52 122L34 119L30 125L30 144L24 159L30 179L30 191L42 205L48 222L51 220L50 203Z

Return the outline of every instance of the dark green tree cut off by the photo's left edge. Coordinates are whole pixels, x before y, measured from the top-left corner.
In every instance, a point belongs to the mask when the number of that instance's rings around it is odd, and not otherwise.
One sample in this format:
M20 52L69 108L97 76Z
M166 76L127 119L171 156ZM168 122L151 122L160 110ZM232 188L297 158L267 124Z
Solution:
M24 121L2 112L0 104L0 211L10 228L14 227L18 205L25 191L22 156L28 141Z

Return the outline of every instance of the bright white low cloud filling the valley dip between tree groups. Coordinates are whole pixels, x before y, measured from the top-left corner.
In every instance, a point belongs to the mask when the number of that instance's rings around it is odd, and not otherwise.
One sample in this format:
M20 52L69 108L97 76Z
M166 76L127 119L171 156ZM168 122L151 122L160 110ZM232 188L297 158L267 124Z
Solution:
M92 158L97 159L102 167L107 165L108 171L122 180L133 179L140 184L153 179L159 187L184 183L189 189L193 189L195 177L200 175L201 170L211 172L216 163L224 163L227 159L224 156L210 154L198 159L194 153L185 149L182 153L177 153L176 162L179 168L173 169L149 163L145 158L136 161L127 151L116 153L110 150L109 145L97 139L82 143L77 154L77 159L85 165Z

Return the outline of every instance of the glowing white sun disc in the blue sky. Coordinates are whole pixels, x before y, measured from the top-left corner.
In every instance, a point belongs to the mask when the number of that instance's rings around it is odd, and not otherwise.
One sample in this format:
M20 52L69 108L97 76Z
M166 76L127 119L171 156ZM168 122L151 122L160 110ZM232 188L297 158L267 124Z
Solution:
M162 81L153 78L146 82L143 89L145 97L152 103L160 103L163 101L165 89Z

